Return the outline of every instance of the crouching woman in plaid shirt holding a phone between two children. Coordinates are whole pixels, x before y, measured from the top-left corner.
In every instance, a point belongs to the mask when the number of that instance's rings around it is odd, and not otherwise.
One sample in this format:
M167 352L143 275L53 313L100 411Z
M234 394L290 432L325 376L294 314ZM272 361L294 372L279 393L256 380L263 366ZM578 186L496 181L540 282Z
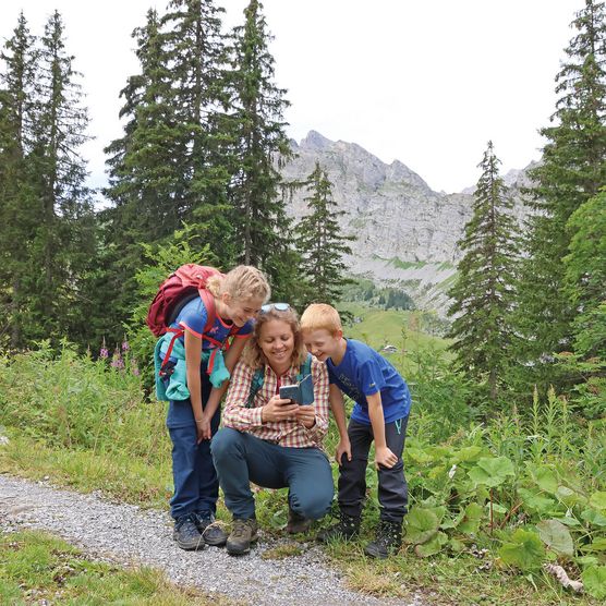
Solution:
M326 365L312 360L313 404L300 405L279 396L280 386L296 383L306 357L294 310L286 303L263 305L232 374L225 427L211 445L226 506L233 516L227 541L230 555L249 553L257 538L250 482L267 488L289 487L287 530L291 533L303 532L330 507L332 474L320 450L328 429ZM255 376L258 368L263 368L263 385L255 392L251 389L260 375Z

